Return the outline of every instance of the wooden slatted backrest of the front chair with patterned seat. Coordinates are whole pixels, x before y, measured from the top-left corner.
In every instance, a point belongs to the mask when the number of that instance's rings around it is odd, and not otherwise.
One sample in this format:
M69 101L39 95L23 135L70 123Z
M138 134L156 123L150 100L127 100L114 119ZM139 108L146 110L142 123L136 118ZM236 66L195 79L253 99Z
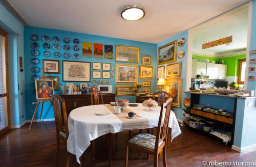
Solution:
M158 144L160 142L162 142L162 141L166 142L166 140L167 140L170 109L172 108L172 101L173 101L173 98L169 98L166 101L166 103L161 104L161 111L160 111L158 127L157 127L155 150L158 149ZM165 113L164 113L164 108L165 108ZM163 126L162 126L162 120L163 120Z

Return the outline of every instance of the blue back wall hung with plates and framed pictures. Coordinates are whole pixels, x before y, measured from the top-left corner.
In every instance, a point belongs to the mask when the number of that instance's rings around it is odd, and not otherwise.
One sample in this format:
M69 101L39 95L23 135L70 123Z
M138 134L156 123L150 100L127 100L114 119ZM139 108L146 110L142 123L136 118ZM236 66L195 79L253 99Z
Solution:
M36 34L39 37L38 43L40 44L40 48L38 49L40 51L40 55L36 58L39 58L41 60L41 63L39 65L33 65L30 60L32 58L35 58L35 56L33 56L31 54L31 46L30 43L32 42L32 40L30 39L30 35L31 34ZM45 49L42 47L42 44L44 44L45 42L42 41L42 36L49 36L51 37L51 41L48 42L51 45L51 49L49 49L49 51L52 53L51 57L46 58L44 57L44 55L42 55L42 52L45 51ZM54 44L52 41L53 37L59 37L61 42L59 43L61 45L61 50L59 51L62 56L61 58L55 58L53 56L53 52L55 52L55 50L52 48L52 45ZM71 39L71 42L69 43L69 45L71 46L70 51L68 51L69 53L71 53L72 57L69 59L65 59L63 58L63 53L66 52L62 49L62 46L65 44L63 42L63 38L64 37L68 37ZM77 52L80 54L80 59L75 60L73 58L73 54L75 53L75 51L73 50L73 39L74 38L78 38L80 40L80 43L78 44L80 46L80 50ZM101 44L109 44L109 45L113 45L113 54L114 54L114 59L112 60L107 60L107 59L95 59L94 57L92 58L85 58L82 57L82 42L92 42L92 43L101 43ZM138 64L134 64L134 63L121 63L121 62L115 62L115 46L116 45L123 45L123 46L133 46L133 47L139 47L140 48L140 57L139 57L139 63ZM84 62L104 62L104 63L111 63L111 68L114 67L115 68L115 64L132 64L132 65L141 65L141 57L142 54L146 54L146 55L151 55L152 56L152 66L155 67L156 64L156 54L157 54L157 44L153 44L153 43L145 43L145 42L138 42L138 41L131 41L131 40L123 40L123 39L116 39L116 38L110 38L110 37L103 37L103 36L96 36L96 35L89 35L89 34L81 34L81 33L74 33L74 32L68 32L68 31L61 31L61 30L53 30L53 29L43 29L43 28L39 28L39 27L31 27L31 26L26 26L24 29L24 49L25 49L25 64L26 64L26 71L25 71L25 80L26 80L26 118L27 120L30 120L33 116L34 113L34 108L35 105L32 105L32 102L36 101L35 96L33 95L33 90L35 89L32 85L33 85L33 80L32 80L32 76L34 75L34 73L31 71L31 68L33 66L37 66L39 68L42 67L42 59L51 59L51 60L60 60L60 74L46 74L47 76L59 76L59 82L62 83L62 85L66 85L66 82L62 81L62 60L67 60L67 61L84 61ZM92 69L92 63L91 63L91 69ZM112 73L112 71L111 71ZM38 75L40 75L40 73L38 73ZM139 79L139 82L142 82L142 80L148 80L148 81L152 81L151 84L151 89L152 91L155 90L155 84L153 83L153 80L155 80L155 75L156 75L156 70L154 68L154 77L153 79ZM139 76L139 75L138 75ZM94 79L92 78L92 70L91 70L91 82L88 84L90 86L93 86L92 81ZM111 77L111 79L95 79L95 80L111 80L111 85L113 85L113 93L115 92L115 77ZM80 84L80 82L73 82L75 85ZM129 85L129 84L119 84L119 85ZM61 93L60 88L58 92L55 92L57 94ZM126 97L116 97L116 98L127 98L130 102L136 102L136 97L135 96L126 96ZM50 105L50 103L48 102L48 104L44 105L44 112L42 114L42 119L49 119L49 118L54 118L53 116L53 111L52 111L52 107ZM40 109L40 107L39 107ZM39 112L37 113L37 116L35 119L39 118Z

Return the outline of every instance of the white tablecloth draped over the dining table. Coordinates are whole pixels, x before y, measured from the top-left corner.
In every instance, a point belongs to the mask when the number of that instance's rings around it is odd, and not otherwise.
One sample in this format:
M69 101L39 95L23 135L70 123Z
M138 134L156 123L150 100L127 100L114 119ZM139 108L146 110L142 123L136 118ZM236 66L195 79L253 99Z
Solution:
M127 108L133 110L135 113L148 119L150 127L158 126L158 120L161 107L151 108L146 110L141 103L137 107ZM109 111L104 105L89 105L76 108L72 110L68 119L69 138L68 151L76 155L78 163L79 157L90 146L90 141L95 138L108 134L122 131L122 121L110 112L109 115L98 116L97 112ZM173 111L170 113L169 127L172 128L172 140L181 133L178 121Z

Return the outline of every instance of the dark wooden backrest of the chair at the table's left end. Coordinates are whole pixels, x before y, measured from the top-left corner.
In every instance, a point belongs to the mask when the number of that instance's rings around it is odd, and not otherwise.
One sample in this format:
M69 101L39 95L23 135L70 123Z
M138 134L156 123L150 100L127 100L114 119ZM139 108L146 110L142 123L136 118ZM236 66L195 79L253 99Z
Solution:
M62 99L58 95L53 95L53 111L57 133L60 131L65 132L66 138L68 139L69 128L65 99Z

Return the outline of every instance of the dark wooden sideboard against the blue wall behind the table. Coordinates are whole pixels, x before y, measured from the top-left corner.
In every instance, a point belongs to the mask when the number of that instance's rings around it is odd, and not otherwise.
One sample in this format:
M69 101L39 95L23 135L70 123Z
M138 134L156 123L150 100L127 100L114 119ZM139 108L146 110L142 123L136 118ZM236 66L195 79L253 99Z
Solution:
M65 99L67 115L69 115L69 113L75 108L91 105L91 94L62 94L60 97ZM115 101L115 94L102 94L102 97L104 104L109 104L111 101Z

